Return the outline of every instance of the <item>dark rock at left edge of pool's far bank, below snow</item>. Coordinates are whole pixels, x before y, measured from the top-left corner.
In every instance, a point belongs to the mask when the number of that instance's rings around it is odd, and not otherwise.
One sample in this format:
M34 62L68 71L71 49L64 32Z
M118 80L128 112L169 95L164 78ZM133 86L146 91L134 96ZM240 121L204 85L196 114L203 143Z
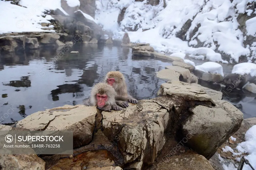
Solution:
M25 35L9 35L0 37L0 52L24 51L25 40Z

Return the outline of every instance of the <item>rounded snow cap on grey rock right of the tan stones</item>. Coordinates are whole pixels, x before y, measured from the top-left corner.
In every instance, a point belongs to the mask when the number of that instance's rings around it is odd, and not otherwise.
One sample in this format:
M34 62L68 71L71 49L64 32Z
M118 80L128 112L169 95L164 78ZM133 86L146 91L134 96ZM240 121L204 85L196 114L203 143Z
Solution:
M222 66L216 62L205 62L202 65L195 66L195 69L203 72L215 73L224 76Z

